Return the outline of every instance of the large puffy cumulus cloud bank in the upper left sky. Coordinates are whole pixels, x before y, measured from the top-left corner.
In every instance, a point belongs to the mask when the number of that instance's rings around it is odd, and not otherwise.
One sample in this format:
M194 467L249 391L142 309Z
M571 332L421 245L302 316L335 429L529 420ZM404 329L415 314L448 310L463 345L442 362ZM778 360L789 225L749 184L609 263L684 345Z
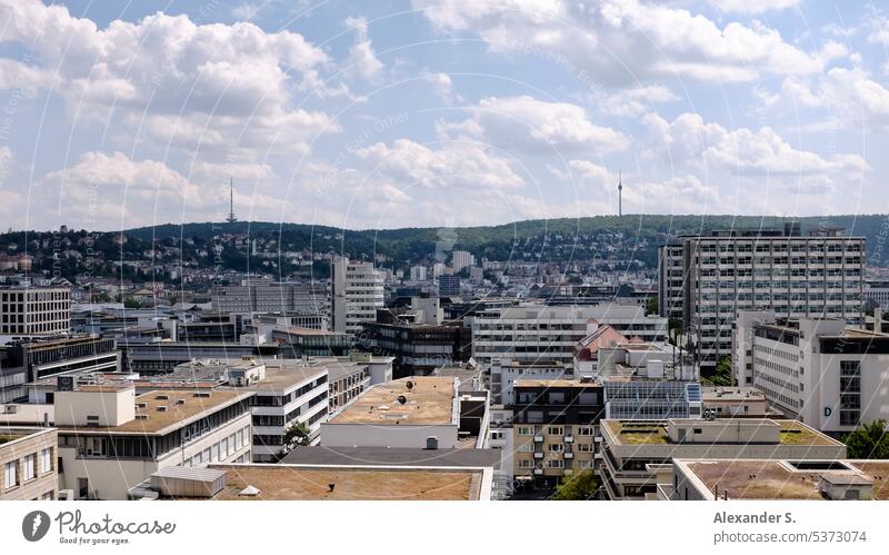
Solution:
M248 22L197 24L161 12L99 29L64 7L37 0L0 0L0 43L17 43L33 57L33 75L24 77L37 86L41 76L58 71L53 90L80 117L116 113L134 125L144 118L149 131L177 119L194 128L212 118L207 132L229 138L257 123L248 131L253 138L283 133L290 140L336 130L323 113L292 113L291 76L330 60L290 31L266 32Z

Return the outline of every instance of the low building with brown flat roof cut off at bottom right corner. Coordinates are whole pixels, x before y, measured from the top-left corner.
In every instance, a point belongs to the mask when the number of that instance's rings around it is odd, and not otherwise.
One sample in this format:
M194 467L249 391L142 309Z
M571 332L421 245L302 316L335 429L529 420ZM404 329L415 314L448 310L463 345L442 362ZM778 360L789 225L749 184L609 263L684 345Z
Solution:
M889 460L676 459L661 479L670 501L889 501Z

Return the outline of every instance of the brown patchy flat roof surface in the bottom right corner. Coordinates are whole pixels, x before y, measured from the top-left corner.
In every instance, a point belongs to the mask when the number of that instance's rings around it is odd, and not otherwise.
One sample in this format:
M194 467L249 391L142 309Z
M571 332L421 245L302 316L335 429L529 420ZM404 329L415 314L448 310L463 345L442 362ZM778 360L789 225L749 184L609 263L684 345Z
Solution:
M710 493L730 499L822 499L818 482L872 482L873 498L889 499L889 460L835 460L835 469L795 468L786 460L681 460ZM843 469L843 467L846 467ZM851 478L851 479L850 479Z

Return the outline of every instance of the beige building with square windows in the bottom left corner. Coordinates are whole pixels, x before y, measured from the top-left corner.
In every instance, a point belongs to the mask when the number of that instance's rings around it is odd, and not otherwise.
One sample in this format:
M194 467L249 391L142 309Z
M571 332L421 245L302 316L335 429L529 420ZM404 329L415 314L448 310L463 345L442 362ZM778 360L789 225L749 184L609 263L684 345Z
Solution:
M0 427L0 501L58 498L54 428Z

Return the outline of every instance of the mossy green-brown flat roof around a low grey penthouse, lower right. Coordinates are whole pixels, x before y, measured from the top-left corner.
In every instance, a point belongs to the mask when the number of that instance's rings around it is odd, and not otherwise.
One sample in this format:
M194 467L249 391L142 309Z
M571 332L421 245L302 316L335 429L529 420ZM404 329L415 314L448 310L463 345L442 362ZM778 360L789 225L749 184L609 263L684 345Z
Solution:
M705 420L693 418L680 418L676 420L679 424L693 424L700 422L701 424L710 424L713 422L726 423L743 423L747 426L756 426L757 420L723 418L718 420ZM778 436L781 445L841 445L835 439L809 428L796 420L768 420L775 422L780 426ZM602 420L611 435L616 438L617 443L625 445L657 445L670 444L670 437L667 434L667 423L661 420L652 420L650 423L645 420Z

